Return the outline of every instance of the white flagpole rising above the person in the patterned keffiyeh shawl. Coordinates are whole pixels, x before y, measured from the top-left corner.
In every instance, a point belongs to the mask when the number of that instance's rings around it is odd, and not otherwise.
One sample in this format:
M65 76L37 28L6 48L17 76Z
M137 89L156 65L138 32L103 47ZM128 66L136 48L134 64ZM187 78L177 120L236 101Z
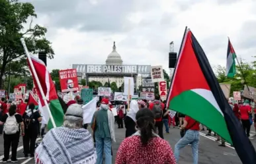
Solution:
M54 126L54 128L56 128L56 124L54 122L54 117L52 117L52 113L51 113L50 108L48 106L48 103L46 101L46 96L44 95L44 92L42 90L42 86L41 86L40 81L38 79L38 76L36 74L36 70L34 68L34 65L33 65L32 61L31 61L31 58L30 58L30 55L29 55L29 52L28 52L28 48L26 47L26 42L25 42L24 38L21 38L21 43L22 43L22 45L24 47L24 50L25 50L25 53L26 53L26 57L28 58L28 62L30 64L30 67L31 67L32 72L34 74L34 78L36 79L36 83L38 84L38 88L39 88L40 94L42 95L42 98L44 99L44 103L46 105L46 108L47 108L47 111L49 113L50 119L52 121L52 126Z

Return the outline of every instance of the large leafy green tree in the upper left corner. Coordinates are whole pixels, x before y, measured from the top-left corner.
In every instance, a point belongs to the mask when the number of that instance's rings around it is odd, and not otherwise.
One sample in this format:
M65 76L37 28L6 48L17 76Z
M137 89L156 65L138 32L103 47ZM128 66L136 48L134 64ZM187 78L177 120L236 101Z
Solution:
M50 59L54 57L54 51L50 41L46 40L47 29L36 24L32 25L33 18L36 18L34 6L31 3L19 3L17 0L0 1L0 87L3 84L2 76L6 74L8 64L15 61L24 62L24 49L21 38L26 41L28 51L38 53L44 51ZM29 27L24 28L28 23ZM25 66L23 65L24 68Z

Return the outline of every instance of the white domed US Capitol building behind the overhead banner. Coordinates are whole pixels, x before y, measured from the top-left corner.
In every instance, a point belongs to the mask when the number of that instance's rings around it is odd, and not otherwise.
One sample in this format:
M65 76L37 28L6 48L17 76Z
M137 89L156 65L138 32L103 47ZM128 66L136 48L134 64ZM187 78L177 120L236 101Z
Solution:
M119 55L119 53L116 51L116 44L114 42L114 45L112 47L112 52L108 55L107 60L106 60L106 65L122 65L122 58ZM116 86L119 88L120 86L122 86L122 83L124 82L124 78L123 77L89 77L89 81L97 81L97 82L101 82L103 85L108 82L111 84L111 82L116 82ZM136 88L138 89L139 86L142 85L142 76L139 74L137 76L137 80L136 80Z

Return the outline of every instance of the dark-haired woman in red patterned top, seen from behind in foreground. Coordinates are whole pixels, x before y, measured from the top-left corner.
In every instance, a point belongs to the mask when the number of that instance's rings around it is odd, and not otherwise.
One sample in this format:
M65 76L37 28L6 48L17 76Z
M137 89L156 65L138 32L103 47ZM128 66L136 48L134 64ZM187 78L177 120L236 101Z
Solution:
M136 113L138 131L120 144L116 164L176 163L169 143L155 134L154 123L154 115L149 109L140 109Z

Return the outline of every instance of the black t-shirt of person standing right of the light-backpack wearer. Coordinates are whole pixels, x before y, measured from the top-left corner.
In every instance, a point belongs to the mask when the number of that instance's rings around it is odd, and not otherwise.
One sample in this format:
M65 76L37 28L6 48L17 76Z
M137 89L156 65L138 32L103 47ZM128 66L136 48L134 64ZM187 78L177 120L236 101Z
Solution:
M27 129L37 129L39 126L38 118L40 118L41 115L38 111L34 111L30 116L27 115L25 112L22 116L24 120L24 126L25 130Z

